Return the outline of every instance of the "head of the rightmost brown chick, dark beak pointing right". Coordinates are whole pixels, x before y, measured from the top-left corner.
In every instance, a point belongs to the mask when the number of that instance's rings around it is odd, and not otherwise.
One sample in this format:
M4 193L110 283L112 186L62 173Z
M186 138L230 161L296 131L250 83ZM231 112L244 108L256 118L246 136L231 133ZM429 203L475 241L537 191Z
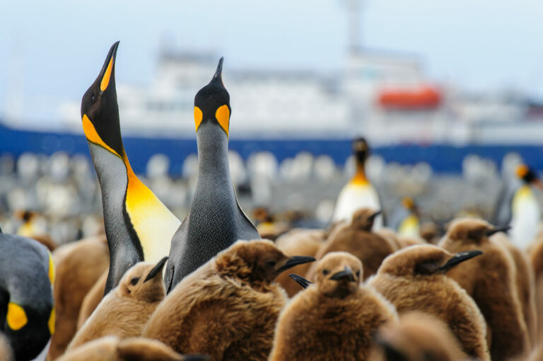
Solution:
M460 218L450 224L444 239L466 244L481 244L488 241L489 236L497 232L506 232L508 229L509 227L494 227L482 219Z

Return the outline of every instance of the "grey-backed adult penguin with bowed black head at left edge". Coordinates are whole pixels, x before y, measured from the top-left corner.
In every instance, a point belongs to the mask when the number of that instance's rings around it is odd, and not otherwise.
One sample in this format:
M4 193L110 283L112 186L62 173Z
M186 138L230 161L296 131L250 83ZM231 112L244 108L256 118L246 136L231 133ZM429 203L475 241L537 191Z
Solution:
M32 360L54 333L54 264L33 239L0 234L0 332L17 361Z

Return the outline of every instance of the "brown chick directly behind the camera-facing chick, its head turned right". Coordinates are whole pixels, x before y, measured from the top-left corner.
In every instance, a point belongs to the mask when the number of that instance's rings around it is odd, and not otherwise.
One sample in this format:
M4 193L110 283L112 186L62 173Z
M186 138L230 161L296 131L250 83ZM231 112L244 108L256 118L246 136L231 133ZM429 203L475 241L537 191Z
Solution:
M375 217L380 214L369 208L362 208L353 214L353 219L349 227L343 227L333 237L329 237L322 244L317 256L320 259L330 252L345 251L358 257L363 265L363 277L366 280L370 275L374 275L381 262L395 251L389 241L382 236L371 231ZM315 280L317 264L311 265L307 276L309 280Z

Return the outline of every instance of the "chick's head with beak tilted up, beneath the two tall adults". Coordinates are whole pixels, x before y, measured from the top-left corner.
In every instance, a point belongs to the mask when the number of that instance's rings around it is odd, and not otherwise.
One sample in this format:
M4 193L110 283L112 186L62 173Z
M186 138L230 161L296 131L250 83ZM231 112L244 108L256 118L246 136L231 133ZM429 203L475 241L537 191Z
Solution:
M162 258L156 265L139 262L122 276L117 294L132 297L144 302L160 302L165 297L162 269L168 257Z

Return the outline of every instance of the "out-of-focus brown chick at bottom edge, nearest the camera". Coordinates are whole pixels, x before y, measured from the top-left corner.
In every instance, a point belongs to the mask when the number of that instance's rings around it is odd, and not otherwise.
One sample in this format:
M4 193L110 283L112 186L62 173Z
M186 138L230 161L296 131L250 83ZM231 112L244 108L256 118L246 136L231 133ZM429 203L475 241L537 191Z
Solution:
M430 314L408 312L378 331L375 361L460 361L466 356L448 326Z

